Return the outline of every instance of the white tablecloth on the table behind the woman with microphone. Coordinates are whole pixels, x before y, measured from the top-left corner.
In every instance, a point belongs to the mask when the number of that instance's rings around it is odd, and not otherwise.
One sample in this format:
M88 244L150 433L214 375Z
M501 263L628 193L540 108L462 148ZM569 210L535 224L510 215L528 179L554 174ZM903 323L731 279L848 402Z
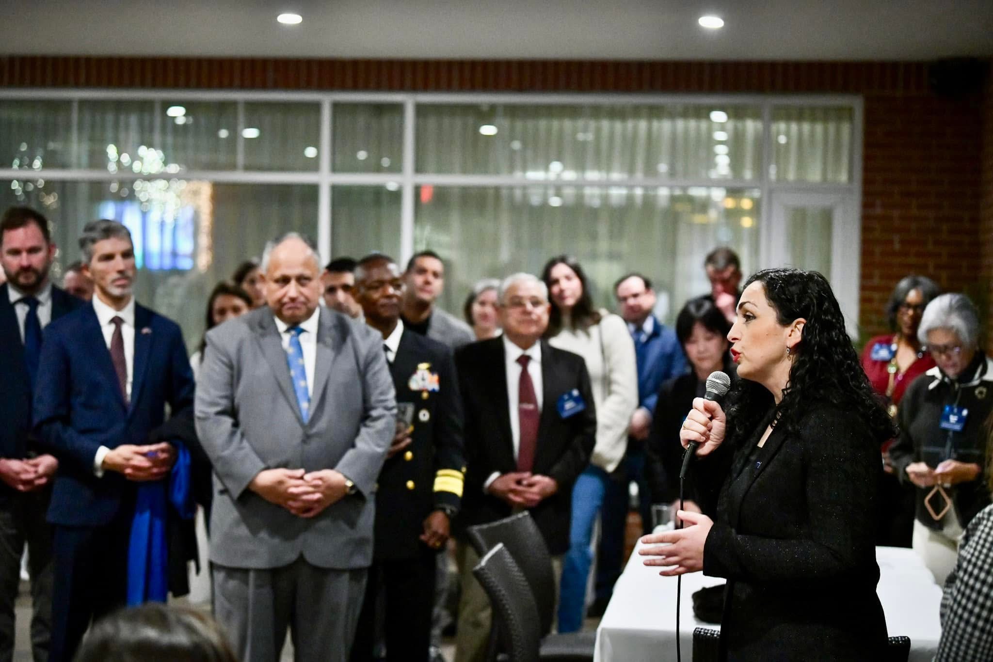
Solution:
M880 569L877 593L890 635L911 637L911 662L929 661L941 635L941 589L913 550L878 547L876 559ZM676 659L676 579L660 577L660 568L648 568L642 561L636 549L614 588L597 628L594 662ZM693 616L693 592L723 582L702 573L683 575L679 624L683 660L693 658L695 627L720 627Z

